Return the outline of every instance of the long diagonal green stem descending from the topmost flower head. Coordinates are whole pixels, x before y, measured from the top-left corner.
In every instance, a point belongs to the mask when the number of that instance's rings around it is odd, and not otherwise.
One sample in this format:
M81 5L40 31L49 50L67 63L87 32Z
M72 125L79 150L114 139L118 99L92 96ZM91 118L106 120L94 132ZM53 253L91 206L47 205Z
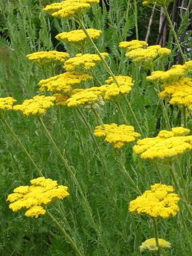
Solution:
M117 79L116 79L114 73L112 72L111 68L109 67L109 65L108 65L108 63L106 62L106 60L104 59L104 57L101 55L101 53L100 53L99 49L97 48L97 46L95 45L93 39L91 38L91 36L90 36L89 33L87 32L86 27L84 27L83 23L81 22L81 20L80 20L78 17L76 17L76 22L79 23L79 25L81 26L82 30L84 31L84 33L86 34L86 36L87 36L88 39L90 40L91 44L92 44L93 47L95 48L95 51L97 52L97 54L99 55L100 59L102 60L104 66L105 66L105 68L106 68L106 70L107 70L107 71L109 72L109 74L112 76L112 78L113 78L115 84L117 84L117 86L120 87L120 85L119 85L119 83L118 83L118 81L117 81ZM122 94L122 96L123 96L123 98L127 101L126 97L125 97L123 94ZM143 133L142 133L142 130L141 130L141 127L140 127L140 125L139 125L139 122L137 121L137 118L136 118L136 116L135 116L135 114L134 114L134 111L133 111L133 109L132 109L132 106L131 106L130 102L127 103L127 105L129 106L130 112L131 112L131 114L133 115L134 121L135 121L136 125L138 126L138 129L140 130L140 133L143 134Z

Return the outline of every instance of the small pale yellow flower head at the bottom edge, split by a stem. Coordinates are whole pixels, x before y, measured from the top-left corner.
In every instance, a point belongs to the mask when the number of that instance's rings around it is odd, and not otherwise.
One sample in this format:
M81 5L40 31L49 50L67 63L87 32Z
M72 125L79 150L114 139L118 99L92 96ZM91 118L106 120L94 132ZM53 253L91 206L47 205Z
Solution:
M160 249L160 250L161 249L169 249L171 246L169 242L167 242L166 240L161 239L161 238L158 239L158 243L159 243L159 248L156 245L155 238L147 239L139 247L140 252L143 252L143 251L155 252L155 251L158 251L158 249Z

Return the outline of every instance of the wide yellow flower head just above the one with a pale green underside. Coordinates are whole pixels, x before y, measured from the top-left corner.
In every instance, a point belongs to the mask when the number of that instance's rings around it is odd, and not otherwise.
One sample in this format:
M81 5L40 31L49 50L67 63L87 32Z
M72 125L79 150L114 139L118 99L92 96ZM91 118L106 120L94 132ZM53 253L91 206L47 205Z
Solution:
M38 85L42 92L49 91L68 94L74 86L79 86L81 83L91 79L92 77L88 74L73 71L42 79L39 81Z

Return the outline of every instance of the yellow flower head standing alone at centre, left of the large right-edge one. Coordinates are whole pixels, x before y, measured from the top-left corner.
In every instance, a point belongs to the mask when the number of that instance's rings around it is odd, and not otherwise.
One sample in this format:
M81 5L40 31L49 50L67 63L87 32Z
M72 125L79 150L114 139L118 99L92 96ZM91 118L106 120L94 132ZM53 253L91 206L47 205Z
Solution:
M100 125L96 126L94 135L104 137L104 140L111 143L115 148L121 148L141 136L135 132L132 125L117 125L116 123L104 124L104 129Z

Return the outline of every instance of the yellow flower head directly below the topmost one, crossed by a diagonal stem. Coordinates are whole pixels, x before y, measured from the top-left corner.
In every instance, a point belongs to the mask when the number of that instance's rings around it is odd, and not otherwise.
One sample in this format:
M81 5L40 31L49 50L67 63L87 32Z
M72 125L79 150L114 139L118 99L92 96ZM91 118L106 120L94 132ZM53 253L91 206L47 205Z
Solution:
M99 38L102 31L97 29L87 29L87 32L92 39ZM69 32L62 32L55 36L55 38L62 42L68 42L71 44L79 44L79 42L86 42L88 38L82 29L72 30Z

